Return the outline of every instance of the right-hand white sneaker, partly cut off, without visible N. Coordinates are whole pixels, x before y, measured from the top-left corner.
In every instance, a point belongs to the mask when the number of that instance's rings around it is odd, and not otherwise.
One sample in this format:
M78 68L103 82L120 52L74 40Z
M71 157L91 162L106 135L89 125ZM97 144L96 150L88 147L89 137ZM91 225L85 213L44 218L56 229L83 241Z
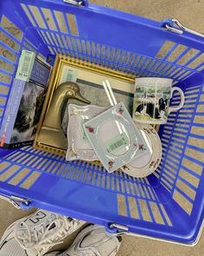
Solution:
M121 241L121 237L107 233L102 226L87 226L66 252L47 253L45 256L115 256Z

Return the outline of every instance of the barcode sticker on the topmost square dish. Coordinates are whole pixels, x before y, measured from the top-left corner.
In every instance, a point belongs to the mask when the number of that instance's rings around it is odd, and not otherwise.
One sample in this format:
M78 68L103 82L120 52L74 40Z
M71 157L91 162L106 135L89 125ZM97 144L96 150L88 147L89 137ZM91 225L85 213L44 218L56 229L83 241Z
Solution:
M128 136L125 133L117 135L110 141L105 142L105 148L108 153L117 153L120 149L125 148L130 143Z

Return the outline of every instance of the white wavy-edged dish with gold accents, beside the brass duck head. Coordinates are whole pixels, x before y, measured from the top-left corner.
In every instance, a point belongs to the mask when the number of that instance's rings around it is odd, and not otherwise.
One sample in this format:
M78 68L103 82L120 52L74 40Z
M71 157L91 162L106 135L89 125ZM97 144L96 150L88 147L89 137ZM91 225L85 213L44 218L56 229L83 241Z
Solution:
M99 107L95 105L78 106L70 104L68 106L69 121L67 126L67 161L99 160L86 137L82 124L92 119L94 116L101 114L107 108L109 107Z

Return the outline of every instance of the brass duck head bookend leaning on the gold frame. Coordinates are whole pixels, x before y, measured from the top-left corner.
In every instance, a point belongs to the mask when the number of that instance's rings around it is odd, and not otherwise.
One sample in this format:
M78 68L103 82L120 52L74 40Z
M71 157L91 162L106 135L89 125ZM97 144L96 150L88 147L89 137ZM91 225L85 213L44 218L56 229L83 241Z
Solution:
M64 82L54 90L48 112L41 126L38 141L41 144L54 148L67 149L67 138L61 128L62 110L67 105L68 99L76 99L90 104L81 94L75 82Z

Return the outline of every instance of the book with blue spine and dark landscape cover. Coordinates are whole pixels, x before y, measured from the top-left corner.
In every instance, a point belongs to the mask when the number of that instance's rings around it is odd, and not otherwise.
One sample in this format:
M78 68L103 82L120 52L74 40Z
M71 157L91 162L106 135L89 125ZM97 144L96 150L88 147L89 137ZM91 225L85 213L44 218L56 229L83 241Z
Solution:
M1 148L32 145L50 71L51 66L40 56L22 50L0 128Z

